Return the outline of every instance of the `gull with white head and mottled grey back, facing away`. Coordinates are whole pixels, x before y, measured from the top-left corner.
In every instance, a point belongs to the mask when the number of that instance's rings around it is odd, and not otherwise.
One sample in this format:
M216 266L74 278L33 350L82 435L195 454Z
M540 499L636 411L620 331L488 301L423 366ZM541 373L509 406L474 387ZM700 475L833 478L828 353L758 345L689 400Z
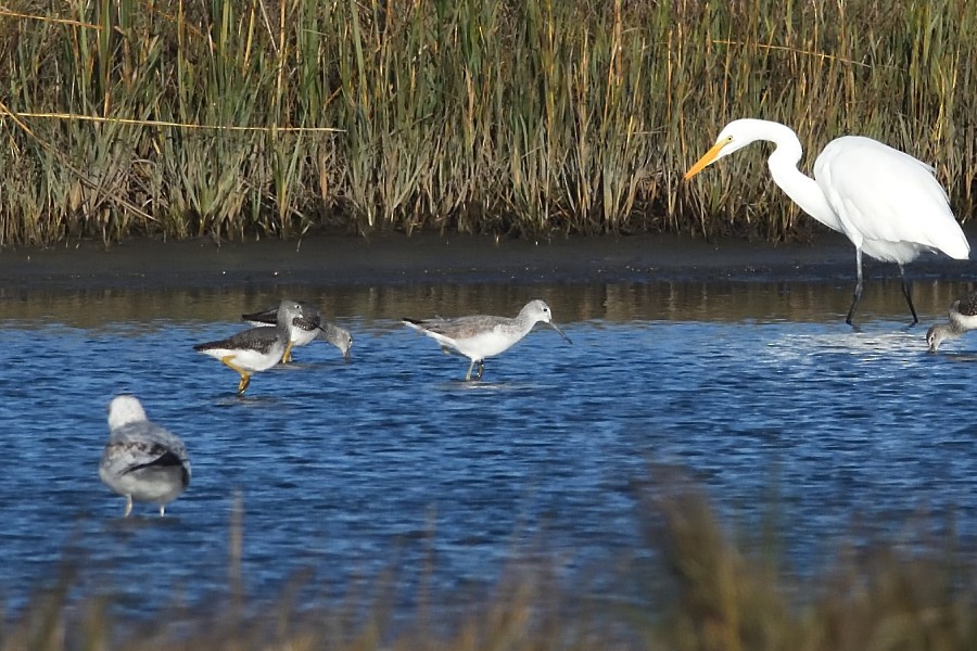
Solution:
M116 396L109 404L109 443L99 464L106 486L126 498L160 505L160 515L190 485L187 448L176 434L145 418L134 396Z

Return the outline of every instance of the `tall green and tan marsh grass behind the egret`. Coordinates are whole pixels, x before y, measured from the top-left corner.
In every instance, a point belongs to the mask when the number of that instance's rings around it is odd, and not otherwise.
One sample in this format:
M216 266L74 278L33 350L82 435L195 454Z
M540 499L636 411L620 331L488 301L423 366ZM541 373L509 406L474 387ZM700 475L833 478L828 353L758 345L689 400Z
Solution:
M0 246L805 237L762 148L681 181L741 116L904 149L966 220L975 49L966 0L25 0L0 10Z

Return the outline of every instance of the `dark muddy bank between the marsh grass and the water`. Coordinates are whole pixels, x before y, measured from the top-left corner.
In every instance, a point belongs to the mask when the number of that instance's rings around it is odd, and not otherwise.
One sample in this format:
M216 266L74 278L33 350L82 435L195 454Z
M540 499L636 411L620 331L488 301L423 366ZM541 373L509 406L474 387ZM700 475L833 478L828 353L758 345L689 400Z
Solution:
M970 233L972 241L974 234ZM972 261L925 255L913 279L969 280ZM894 265L865 259L867 277L897 277ZM854 250L842 235L812 243L709 242L686 235L557 237L496 240L478 235L370 238L316 234L301 241L132 240L106 250L81 242L0 251L4 290L274 284L561 283L642 281L828 281L854 279Z

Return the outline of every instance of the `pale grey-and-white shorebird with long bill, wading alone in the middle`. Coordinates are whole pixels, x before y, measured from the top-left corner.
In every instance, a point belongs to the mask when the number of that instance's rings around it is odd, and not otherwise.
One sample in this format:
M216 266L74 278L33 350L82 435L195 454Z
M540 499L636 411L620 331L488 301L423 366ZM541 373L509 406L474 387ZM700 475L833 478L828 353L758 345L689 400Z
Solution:
M423 321L404 319L405 324L423 332L441 344L444 353L458 353L471 360L468 374L465 375L466 382L471 381L471 371L475 365L479 367L475 380L481 380L485 370L485 358L508 350L538 322L548 323L570 343L570 339L553 322L549 306L538 299L526 303L513 319L484 315L456 319L436 317Z

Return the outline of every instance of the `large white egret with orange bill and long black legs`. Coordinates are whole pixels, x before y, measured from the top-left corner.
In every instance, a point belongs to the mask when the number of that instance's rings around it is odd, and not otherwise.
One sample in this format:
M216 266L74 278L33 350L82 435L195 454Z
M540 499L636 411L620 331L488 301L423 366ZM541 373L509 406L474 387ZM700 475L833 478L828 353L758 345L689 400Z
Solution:
M903 265L924 251L967 259L970 245L950 212L947 193L932 168L877 140L846 136L830 141L814 161L814 178L801 174L800 141L789 127L762 119L737 119L723 128L715 144L685 174L690 179L711 163L757 140L776 144L767 159L774 182L807 214L855 246L858 283L846 322L851 324L862 298L862 252L896 263L902 293L918 323Z

